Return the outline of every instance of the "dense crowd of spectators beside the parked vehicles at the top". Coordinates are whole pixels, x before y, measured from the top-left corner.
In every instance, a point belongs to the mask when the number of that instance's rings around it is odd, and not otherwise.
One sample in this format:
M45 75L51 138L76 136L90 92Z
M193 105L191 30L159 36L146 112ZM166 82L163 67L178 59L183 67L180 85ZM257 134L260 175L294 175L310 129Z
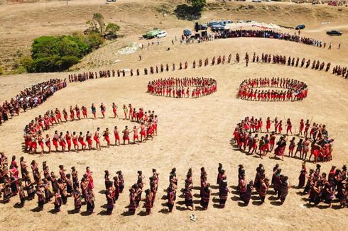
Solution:
M281 33L275 30L224 30L219 33L214 34L214 38L273 38L279 40L287 40L295 43L303 43L305 45L312 45L316 47L322 47L325 49L327 43L322 42L321 40L316 40L314 38L306 38L290 33ZM331 49L332 44L328 45Z

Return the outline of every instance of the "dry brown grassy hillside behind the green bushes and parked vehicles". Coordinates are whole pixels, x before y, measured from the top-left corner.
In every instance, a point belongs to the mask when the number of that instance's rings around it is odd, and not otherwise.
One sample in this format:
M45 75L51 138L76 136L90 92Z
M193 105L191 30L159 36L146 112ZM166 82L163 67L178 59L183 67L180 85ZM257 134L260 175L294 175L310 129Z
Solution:
M8 1L21 2L21 1ZM40 35L63 35L81 32L87 28L86 21L99 12L105 21L118 23L122 35L141 35L153 27L183 28L192 26L189 21L178 20L175 8L185 1L117 1L104 5L101 1L40 1L30 4L8 4L0 9L0 64L13 68L18 57L30 54L34 38ZM25 7L23 7L25 6ZM305 23L310 28L322 21L344 21L348 19L347 9L337 11L335 7L311 6L308 4L208 1L200 18L231 18L232 20L256 20L295 26Z

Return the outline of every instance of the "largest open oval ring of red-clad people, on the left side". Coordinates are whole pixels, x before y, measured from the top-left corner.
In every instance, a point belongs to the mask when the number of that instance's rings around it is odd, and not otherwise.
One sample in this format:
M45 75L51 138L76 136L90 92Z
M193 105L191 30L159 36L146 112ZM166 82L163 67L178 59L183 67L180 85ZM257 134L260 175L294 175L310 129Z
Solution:
M104 103L101 103L99 108L102 114L100 118L104 119L107 107L104 106ZM112 103L112 113L114 118L119 118L117 108L116 104ZM54 111L50 110L43 115L37 116L24 128L23 137L25 151L31 154L37 154L39 152L40 155L42 155L44 152L50 153L52 146L55 147L55 152L79 152L80 150L92 150L94 149L93 140L95 142L95 149L97 150L102 149L102 141L106 142L106 147L110 147L112 145L112 131L109 130L109 128L105 128L103 131L101 131L100 128L97 128L95 132L93 128L92 132L87 131L85 135L82 131L78 133L75 131L59 133L58 130L55 130L52 141L48 133L46 135L43 134L44 131L53 128L55 125L60 123L89 118L97 119L97 108L94 106L94 103L92 103L91 111L92 117L89 117L87 114L87 107L82 106L80 108L76 105L75 107L70 106L70 115L68 115L65 108L62 110L62 113L58 108L55 108ZM120 137L122 137L123 145L129 145L132 134L134 144L146 142L148 139L152 140L153 136L157 135L158 116L155 115L155 111L145 111L143 108L136 110L136 108L131 104L128 106L124 104L123 111L124 120L130 120L131 122L139 123L140 125L138 127L134 126L133 128L126 126L124 130L121 131L121 134L119 128L114 126L114 145L120 145ZM103 140L101 140L102 138Z

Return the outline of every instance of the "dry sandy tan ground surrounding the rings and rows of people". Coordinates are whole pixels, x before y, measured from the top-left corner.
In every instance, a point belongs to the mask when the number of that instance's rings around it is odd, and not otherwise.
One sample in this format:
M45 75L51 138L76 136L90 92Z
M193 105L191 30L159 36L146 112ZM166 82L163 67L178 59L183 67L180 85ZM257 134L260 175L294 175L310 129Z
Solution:
M125 1L124 1L125 2ZM129 4L139 4L140 1L131 1ZM86 17L76 16L77 18L65 18L72 11L62 10L63 2L50 2L38 4L25 4L31 6L29 8L21 8L18 5L4 6L6 10L0 7L0 18L9 17L32 12L36 13L37 17L49 16L51 24L60 24L60 26L43 26L43 23L33 22L31 17L23 18L27 25L27 30L21 30L26 27L23 24L11 28L9 33L4 33L4 26L1 26L0 38L8 38L9 40L16 37L16 40L21 40L28 36L25 43L31 38L41 34L50 33L70 33L73 30L80 30L90 14L94 13L94 4L97 1L71 1L68 6L78 6L80 13L85 13ZM80 5L79 5L80 4ZM121 1L120 1L121 4ZM123 3L122 3L123 4ZM128 4L128 3L127 3ZM310 19L313 12L328 11L335 14L335 21L330 23L330 26L337 28L347 27L344 24L344 15L347 17L347 11L338 12L337 9L332 10L328 7L315 6L314 11L310 10L309 15L303 18L290 18L289 24L300 23L301 21L308 22L308 31L304 30L303 34L312 38L322 39L327 43L333 43L332 50L323 50L317 47L291 43L280 40L267 40L259 38L239 38L229 40L215 40L213 42L191 45L171 45L171 40L175 35L180 36L182 29L185 26L191 26L191 22L176 21L173 18L163 19L163 26L168 28L169 36L161 41L161 45L153 45L146 47L144 50L138 50L131 55L115 55L117 50L131 42L142 43L137 38L141 35L140 31L146 30L141 28L141 23L146 23L146 28L151 28L154 23L160 19L155 18L153 11L145 11L146 4L153 4L153 1L146 1L143 4L143 10L138 9L137 13L115 13L112 18L116 21L121 20L129 23L134 23L136 35L129 35L121 38L119 42L112 43L106 47L85 57L82 62L75 67L76 69L86 70L93 67L94 70L102 69L121 69L121 68L136 68L149 67L151 65L166 63L171 64L180 61L190 61L199 58L212 57L214 55L229 55L230 52L235 54L239 52L241 57L244 57L244 52L272 52L281 53L284 55L293 55L299 57L307 57L312 59L320 59L332 64L348 64L347 54L347 35L344 34L341 38L330 38L325 35L327 25L323 26L320 22L327 21L327 18ZM58 6L62 5L62 6ZM242 4L241 4L242 5ZM24 6L24 5L23 5ZM230 7L234 5L227 5ZM263 4L260 6L264 6ZM291 13L296 14L296 9L299 5L281 4L272 6L281 6L285 8L294 8ZM100 9L106 9L109 6L100 6ZM119 7L119 6L112 6ZM40 9L44 9L40 14ZM305 6L305 9L309 9ZM111 8L108 10L111 11ZM61 18L57 16L60 12ZM228 12L228 11L227 11ZM241 12L244 12L241 10ZM254 11L253 11L254 12ZM256 12L256 10L255 10ZM208 11L207 18L217 17L221 11ZM279 13L276 11L276 13ZM254 17L256 20L264 17L265 21L271 22L276 18L276 13L268 15L262 14L256 16L256 13L240 13L238 18L244 20L249 17ZM290 13L290 11L289 11ZM315 14L315 13L314 13ZM229 13L222 14L229 15ZM230 17L237 17L231 14ZM127 18L127 19L126 19ZM218 19L218 18L216 18ZM13 19L17 21L18 18ZM162 20L162 19L161 19ZM287 17L277 18L278 22L286 23ZM173 24L169 24L173 21ZM47 23L47 21L45 21ZM79 24L76 26L74 23ZM173 26L172 26L173 25ZM31 30L37 26L37 30ZM42 28L47 30L41 30ZM345 28L347 30L347 28ZM337 50L337 44L342 43L341 50ZM7 47L6 43L1 43L2 47ZM9 47L13 47L9 45ZM165 51L170 47L170 51ZM0 48L1 50L1 48ZM143 60L138 61L138 55L142 55ZM114 60L121 60L113 63ZM92 65L90 62L95 62ZM107 64L109 63L109 64ZM1 94L0 101L14 96L16 93L35 82L49 79L50 77L67 77L67 73L54 74L23 74L9 77L1 77ZM218 90L216 93L197 99L176 99L151 96L146 93L148 81L152 79L165 77L212 77L217 79ZM308 84L308 97L304 101L296 102L251 102L243 101L236 98L239 84L244 79L257 77L289 77L305 81ZM347 208L344 209L328 209L323 205L321 208L308 208L307 201L303 201L305 196L299 194L300 190L291 188L286 202L281 206L276 206L266 199L266 205L255 205L259 200L257 195L253 195L251 203L248 207L241 207L236 200L237 194L230 193L227 200L227 206L224 209L215 208L214 203L210 201L210 207L207 211L196 210L191 212L185 210L183 198L177 198L175 203L174 213L166 214L165 203L162 199L166 193L164 189L168 186L168 174L173 167L177 168L179 188L183 187L185 174L187 169L193 169L193 183L199 186L200 182L200 167L205 167L208 174L208 181L214 184L217 176L218 163L224 164L224 169L227 171L227 179L229 186L237 184L237 169L238 164L244 164L246 169L247 179L254 179L255 169L259 163L263 163L266 168L266 175L271 176L272 168L275 164L280 164L283 169L283 174L289 176L292 185L298 184L298 175L300 174L301 161L299 159L290 159L286 157L284 162L279 160L266 158L259 159L254 156L246 156L246 154L235 150L230 145L234 125L245 116L262 117L263 120L267 116L278 116L279 118L291 118L296 128L300 118L313 118L317 123L327 125L332 138L335 138L335 147L333 152L333 161L322 163L322 171L328 172L332 165L341 168L343 164L348 163L348 157L345 152L348 148L346 140L348 135L345 132L348 128L348 99L346 93L348 91L347 80L336 77L330 73L317 72L311 69L300 69L295 67L282 67L274 64L249 64L245 67L244 63L240 64L225 64L218 67L204 67L201 69L187 69L180 72L168 72L163 74L154 74L147 77L125 77L125 78L110 78L110 79L94 79L85 81L82 84L69 84L66 89L58 91L42 106L35 108L27 113L21 113L20 116L13 118L8 123L0 126L0 151L5 152L8 157L15 154L19 159L20 156L25 157L28 163L32 159L36 159L40 163L47 161L51 171L58 174L58 165L63 164L67 169L75 166L80 173L85 172L85 167L91 167L94 176L95 195L96 195L96 214L83 216L80 214L68 214L72 210L73 200L68 199L69 205L63 205L62 211L58 214L50 213L53 205L48 203L42 212L33 212L36 208L36 201L29 201L24 208L14 208L13 205L18 202L18 197L12 198L11 203L0 204L0 223L4 230L13 230L13 228L26 230L178 230L184 228L192 228L195 230L342 230L347 226ZM146 110L155 110L159 116L158 137L153 141L141 145L129 145L126 147L110 147L104 148L101 152L79 152L65 154L45 154L44 157L33 156L23 153L23 128L32 118L38 114L44 113L49 109L68 108L70 105L78 104L85 105L89 108L90 103L104 103L107 106L107 116L112 116L111 104L115 102L119 107L122 104L132 103L136 108L143 107ZM121 109L121 108L120 108ZM119 110L121 114L121 110ZM89 111L90 114L90 111ZM124 120L107 118L107 120L97 120L93 124L91 120L82 120L74 123L58 125L54 130L72 130L72 131L87 131L93 130L100 126L103 128L112 129L114 125L124 128L124 125L133 125ZM112 139L113 140L113 139ZM105 143L104 143L105 145ZM153 215L143 216L144 208L138 208L136 215L125 216L124 211L127 210L126 205L129 204L128 188L136 183L136 171L142 170L146 176L146 186L148 188L148 177L151 174L151 169L156 168L160 173L160 181L158 186L158 196L153 208ZM315 164L308 163L308 168L315 168ZM112 175L119 169L124 172L126 181L126 190L121 194L117 201L112 216L101 215L105 210L103 205L106 204L104 194L99 193L104 189L104 170L108 169ZM235 192L234 188L231 188ZM212 190L214 196L217 197L217 189ZM271 189L272 191L272 189ZM199 190L194 190L194 193L199 194ZM179 194L179 193L178 193ZM268 195L266 198L269 198ZM198 201L200 198L194 198ZM255 199L255 200L254 200ZM196 203L198 206L199 203ZM324 208L324 209L322 209ZM85 206L82 207L85 210ZM197 221L191 222L190 215L195 213ZM4 224L4 225L3 225ZM2 230L2 229L1 229Z

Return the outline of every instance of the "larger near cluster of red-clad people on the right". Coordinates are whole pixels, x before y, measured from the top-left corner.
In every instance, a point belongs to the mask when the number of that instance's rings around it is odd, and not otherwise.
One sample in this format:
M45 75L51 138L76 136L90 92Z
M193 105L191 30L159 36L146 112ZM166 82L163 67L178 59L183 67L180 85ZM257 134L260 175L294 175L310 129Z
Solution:
M270 131L271 124L274 126L273 131ZM286 127L284 131L283 126ZM261 136L261 133L266 133L266 135ZM277 135L280 137L276 142ZM298 141L295 141L295 135L298 135ZM293 136L290 142L288 142L289 136ZM254 116L248 116L234 128L234 142L242 152L259 154L261 159L266 157L268 152L273 152L274 148L274 157L281 157L283 160L288 146L288 157L297 157L298 154L298 158L310 162L313 156L316 163L332 160L334 139L330 139L326 125L312 123L312 120L305 121L301 119L298 134L295 134L290 118L281 120L276 117L271 120L268 117L266 119L266 130L263 130L262 118L257 119ZM246 148L248 148L247 151ZM308 152L310 152L309 157Z

